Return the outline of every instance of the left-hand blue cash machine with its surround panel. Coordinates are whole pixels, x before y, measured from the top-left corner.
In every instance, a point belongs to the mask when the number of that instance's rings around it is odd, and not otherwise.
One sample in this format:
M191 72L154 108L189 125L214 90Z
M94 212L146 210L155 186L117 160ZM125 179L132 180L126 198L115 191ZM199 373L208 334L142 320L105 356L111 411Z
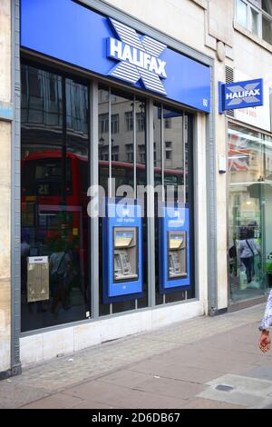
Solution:
M102 225L103 303L141 298L141 205L108 201Z

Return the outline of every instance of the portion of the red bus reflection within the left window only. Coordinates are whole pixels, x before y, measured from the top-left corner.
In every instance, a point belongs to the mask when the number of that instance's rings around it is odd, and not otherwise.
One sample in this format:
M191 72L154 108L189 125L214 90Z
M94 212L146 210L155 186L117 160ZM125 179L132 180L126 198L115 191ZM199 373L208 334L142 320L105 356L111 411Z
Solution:
M86 158L61 150L29 154L22 161L22 227L35 241L81 238L87 215Z

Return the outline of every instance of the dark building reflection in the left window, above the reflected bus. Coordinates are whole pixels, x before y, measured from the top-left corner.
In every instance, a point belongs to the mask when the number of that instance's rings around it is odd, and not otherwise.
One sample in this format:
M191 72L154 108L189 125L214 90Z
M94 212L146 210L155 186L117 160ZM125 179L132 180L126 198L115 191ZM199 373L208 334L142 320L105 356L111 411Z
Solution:
M51 146L53 149L61 149L63 145L61 76L22 65L22 88L21 122L24 133L27 135L24 149L27 152L34 151L37 147L41 151L48 150ZM84 145L88 134L87 117L85 116L88 102L87 93L80 84L67 79L65 99L67 134L74 139L79 152L85 154L81 144ZM75 108L77 109L75 110ZM35 133L39 134L39 137L36 137ZM35 141L33 141L34 135Z

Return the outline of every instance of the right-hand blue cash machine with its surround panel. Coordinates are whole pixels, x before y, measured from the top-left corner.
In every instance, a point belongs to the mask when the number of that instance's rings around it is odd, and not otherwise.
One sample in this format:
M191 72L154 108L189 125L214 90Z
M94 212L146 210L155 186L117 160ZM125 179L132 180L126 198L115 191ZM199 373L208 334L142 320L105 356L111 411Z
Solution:
M189 206L160 209L160 293L189 290Z

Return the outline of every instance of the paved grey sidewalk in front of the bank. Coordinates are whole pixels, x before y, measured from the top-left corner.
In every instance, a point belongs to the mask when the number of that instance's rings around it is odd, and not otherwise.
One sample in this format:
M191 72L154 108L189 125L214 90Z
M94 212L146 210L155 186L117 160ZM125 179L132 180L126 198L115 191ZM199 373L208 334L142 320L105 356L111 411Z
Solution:
M272 407L272 352L257 348L263 311L199 317L25 368L0 382L0 408Z

